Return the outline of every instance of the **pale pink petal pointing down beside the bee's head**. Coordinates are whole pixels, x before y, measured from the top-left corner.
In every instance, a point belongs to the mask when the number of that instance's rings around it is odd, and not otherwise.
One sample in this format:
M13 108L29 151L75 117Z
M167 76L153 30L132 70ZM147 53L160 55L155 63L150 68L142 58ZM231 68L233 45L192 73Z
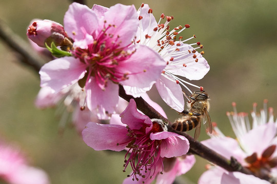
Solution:
M182 88L174 80L172 81L167 77L161 75L156 82L156 88L167 105L178 112L182 112L185 106Z

